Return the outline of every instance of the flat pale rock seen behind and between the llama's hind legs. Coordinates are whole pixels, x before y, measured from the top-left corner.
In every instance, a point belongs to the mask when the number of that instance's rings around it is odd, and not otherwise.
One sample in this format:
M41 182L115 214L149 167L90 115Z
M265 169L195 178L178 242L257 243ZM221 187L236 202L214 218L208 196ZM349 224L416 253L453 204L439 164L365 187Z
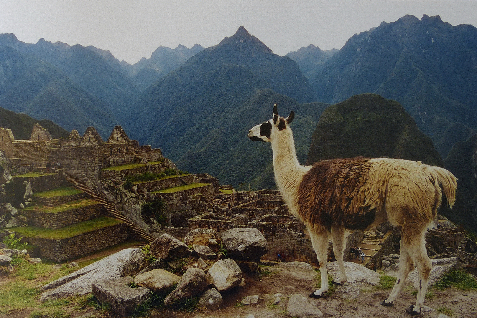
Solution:
M436 282L443 277L447 272L452 269L460 269L461 264L457 257L448 257L448 258L436 258L431 259L432 270L429 274L429 286L436 284ZM384 274L397 277L397 272L399 270L399 263L393 264L390 267L384 270ZM414 288L419 288L419 274L417 273L417 268L414 268L409 275L407 276L406 281L412 283Z

